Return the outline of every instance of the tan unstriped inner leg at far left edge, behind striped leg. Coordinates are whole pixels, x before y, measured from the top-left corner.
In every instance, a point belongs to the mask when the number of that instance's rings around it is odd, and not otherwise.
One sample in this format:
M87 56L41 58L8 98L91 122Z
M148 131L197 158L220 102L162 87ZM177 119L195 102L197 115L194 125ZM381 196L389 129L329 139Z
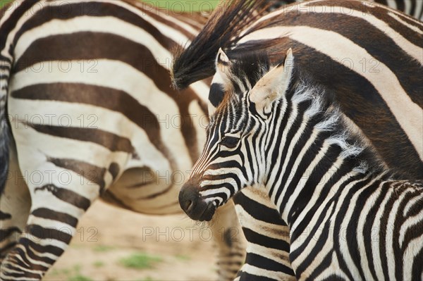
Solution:
M16 149L9 148L10 162L6 187L0 195L0 263L16 245L30 213L31 198L18 167Z

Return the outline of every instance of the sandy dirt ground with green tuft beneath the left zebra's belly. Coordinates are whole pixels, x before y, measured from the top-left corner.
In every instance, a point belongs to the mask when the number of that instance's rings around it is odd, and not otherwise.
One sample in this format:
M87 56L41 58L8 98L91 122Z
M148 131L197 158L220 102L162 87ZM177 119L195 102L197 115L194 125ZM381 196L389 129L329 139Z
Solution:
M77 231L45 280L216 280L209 230L185 215L145 216L97 201Z

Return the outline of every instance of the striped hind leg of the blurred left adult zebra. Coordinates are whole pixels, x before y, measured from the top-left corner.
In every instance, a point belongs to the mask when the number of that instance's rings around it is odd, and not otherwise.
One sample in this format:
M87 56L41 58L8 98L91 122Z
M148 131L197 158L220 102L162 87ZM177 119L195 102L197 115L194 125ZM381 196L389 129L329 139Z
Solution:
M114 177L106 168L76 159L98 159L99 152L104 152L100 147L86 142L66 147L64 140L47 141L51 137L30 127L13 135L32 206L25 230L1 263L0 280L40 280L71 242L79 218ZM85 154L78 155L73 149ZM113 159L111 155L106 158Z

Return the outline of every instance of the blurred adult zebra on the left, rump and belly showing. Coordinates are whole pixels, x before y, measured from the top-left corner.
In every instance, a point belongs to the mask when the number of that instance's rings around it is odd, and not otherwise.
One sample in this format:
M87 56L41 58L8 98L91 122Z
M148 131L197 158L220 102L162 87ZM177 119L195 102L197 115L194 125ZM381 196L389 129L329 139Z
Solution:
M41 279L99 197L140 213L180 212L179 177L200 155L209 87L177 96L167 68L170 50L204 22L137 1L16 1L1 11L1 168L12 151L1 280ZM211 227L236 225L230 207ZM214 237L219 280L230 280L242 240Z

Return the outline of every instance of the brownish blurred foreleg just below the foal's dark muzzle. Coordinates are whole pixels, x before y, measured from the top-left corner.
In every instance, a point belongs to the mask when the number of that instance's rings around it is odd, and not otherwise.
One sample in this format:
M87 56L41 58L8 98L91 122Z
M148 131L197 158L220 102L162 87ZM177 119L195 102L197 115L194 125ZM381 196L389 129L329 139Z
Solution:
M219 249L218 280L233 280L245 260L245 237L232 200L216 210L210 227Z

